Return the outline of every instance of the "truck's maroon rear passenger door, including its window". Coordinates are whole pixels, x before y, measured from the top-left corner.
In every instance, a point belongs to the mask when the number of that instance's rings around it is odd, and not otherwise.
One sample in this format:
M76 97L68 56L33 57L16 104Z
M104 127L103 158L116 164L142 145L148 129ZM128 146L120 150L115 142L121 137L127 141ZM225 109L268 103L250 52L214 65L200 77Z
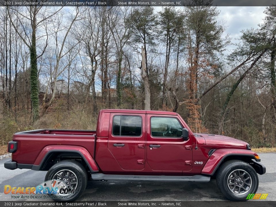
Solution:
M123 170L145 166L145 114L110 114L108 149Z

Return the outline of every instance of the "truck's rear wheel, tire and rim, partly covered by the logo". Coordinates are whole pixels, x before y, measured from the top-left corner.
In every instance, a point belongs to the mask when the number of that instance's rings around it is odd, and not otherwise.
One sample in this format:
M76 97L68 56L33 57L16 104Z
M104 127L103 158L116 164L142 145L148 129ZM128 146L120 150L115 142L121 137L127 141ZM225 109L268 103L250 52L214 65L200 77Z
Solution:
M54 164L45 176L45 182L50 181L56 187L57 193L51 194L55 201L73 201L86 188L87 173L83 165L74 160L62 160Z

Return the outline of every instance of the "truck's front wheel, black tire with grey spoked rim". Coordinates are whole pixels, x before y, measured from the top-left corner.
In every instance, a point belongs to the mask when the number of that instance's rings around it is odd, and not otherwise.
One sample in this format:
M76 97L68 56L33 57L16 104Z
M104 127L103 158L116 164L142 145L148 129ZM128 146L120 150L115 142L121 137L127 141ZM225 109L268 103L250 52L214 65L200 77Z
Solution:
M246 201L249 193L256 193L258 190L259 179L250 164L241 160L230 160L218 169L216 184L229 200Z

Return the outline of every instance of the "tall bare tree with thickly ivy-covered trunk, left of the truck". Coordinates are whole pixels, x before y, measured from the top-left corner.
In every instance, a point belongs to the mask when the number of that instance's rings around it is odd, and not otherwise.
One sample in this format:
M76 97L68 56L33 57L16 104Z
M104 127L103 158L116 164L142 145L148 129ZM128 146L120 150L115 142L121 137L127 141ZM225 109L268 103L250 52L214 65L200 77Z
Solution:
M39 81L38 81L38 69L37 69L37 59L43 55L45 49L48 45L48 33L47 33L47 23L46 20L52 18L59 9L47 9L47 7L43 8L41 6L30 6L26 7L25 10L21 10L22 7L9 7L8 15L11 20L11 24L16 30L19 37L24 41L24 43L28 46L30 50L30 88L31 88L31 103L32 103L32 117L33 121L39 118ZM11 15L11 13L13 15ZM17 20L19 20L21 27L18 28L16 24L14 24L15 16ZM26 26L26 24L28 26ZM45 34L42 34L37 38L37 30L42 26L45 27ZM30 31L31 30L31 35ZM29 38L31 36L31 39ZM40 55L37 55L37 40L40 38L45 38L45 45L41 51Z

